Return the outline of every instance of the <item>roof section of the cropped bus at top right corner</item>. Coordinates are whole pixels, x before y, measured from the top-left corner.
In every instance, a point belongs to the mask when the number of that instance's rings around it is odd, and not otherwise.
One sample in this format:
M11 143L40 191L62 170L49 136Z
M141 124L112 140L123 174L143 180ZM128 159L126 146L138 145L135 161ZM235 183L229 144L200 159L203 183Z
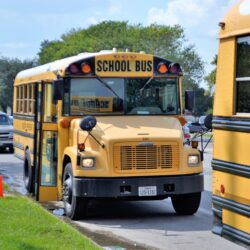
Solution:
M241 0L227 12L220 23L219 38L250 33L250 0Z

